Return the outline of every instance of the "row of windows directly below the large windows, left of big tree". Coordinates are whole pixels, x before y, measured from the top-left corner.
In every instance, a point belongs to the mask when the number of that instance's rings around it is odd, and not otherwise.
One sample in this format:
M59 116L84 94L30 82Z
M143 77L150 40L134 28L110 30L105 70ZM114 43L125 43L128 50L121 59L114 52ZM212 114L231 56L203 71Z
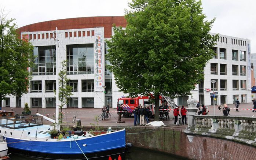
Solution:
M81 92L94 92L94 80L81 80ZM30 92L42 92L42 81L30 81ZM72 86L72 92L78 92L78 80L70 80L67 84ZM45 92L54 92L56 90L56 81L45 81ZM105 79L105 92L112 94L112 79Z

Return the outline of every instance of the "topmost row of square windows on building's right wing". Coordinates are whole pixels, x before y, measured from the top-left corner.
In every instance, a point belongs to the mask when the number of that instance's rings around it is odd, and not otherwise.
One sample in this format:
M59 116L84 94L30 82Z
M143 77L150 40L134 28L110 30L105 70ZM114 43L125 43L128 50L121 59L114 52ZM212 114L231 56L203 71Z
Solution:
M214 47L213 51L215 53L215 56L212 58L217 59L218 58L218 48ZM227 59L227 49L226 48L219 48L219 59ZM232 60L240 60L240 61L246 61L246 52L245 51L239 51L238 56L238 50L232 49Z

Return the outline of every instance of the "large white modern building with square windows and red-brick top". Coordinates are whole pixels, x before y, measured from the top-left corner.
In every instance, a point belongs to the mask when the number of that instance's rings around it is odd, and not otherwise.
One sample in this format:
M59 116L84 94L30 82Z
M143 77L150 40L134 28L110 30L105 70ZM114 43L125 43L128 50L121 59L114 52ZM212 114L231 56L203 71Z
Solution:
M102 108L105 103L115 108L117 98L124 94L118 92L113 75L105 68L108 63L105 40L113 34L113 24L125 27L127 22L124 16L84 17L19 28L21 38L28 39L34 46L35 66L29 68L33 78L27 94L7 96L2 105L24 107L28 103L29 107L55 107L56 66L61 70L61 62L66 60L73 96L65 107ZM216 56L204 68L204 81L191 91L193 97L200 100L200 104L211 105L212 91L209 90L214 89L218 92L216 104L231 104L236 97L241 102L250 102L250 40L219 35L213 49ZM178 97L175 102L186 105L188 98Z

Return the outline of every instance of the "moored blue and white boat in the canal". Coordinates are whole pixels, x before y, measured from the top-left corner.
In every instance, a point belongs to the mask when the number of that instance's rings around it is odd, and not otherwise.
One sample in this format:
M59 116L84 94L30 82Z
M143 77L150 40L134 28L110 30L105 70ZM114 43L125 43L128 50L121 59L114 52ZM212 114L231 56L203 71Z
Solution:
M71 136L52 139L52 126L42 124L42 116L25 116L21 119L1 118L0 133L6 134L10 152L41 159L125 160L125 130L101 135Z

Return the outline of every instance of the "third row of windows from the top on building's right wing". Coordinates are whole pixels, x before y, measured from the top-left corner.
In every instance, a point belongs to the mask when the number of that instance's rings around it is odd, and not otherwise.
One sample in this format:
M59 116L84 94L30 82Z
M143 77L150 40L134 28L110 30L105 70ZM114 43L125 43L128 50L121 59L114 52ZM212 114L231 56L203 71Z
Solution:
M215 83L211 83L211 90L227 90L227 79L211 79L215 80ZM220 89L218 88L220 83ZM233 79L232 80L232 90L246 90L246 80L240 80L240 88L239 88L239 80ZM204 82L200 83L198 86L199 93L204 93Z

